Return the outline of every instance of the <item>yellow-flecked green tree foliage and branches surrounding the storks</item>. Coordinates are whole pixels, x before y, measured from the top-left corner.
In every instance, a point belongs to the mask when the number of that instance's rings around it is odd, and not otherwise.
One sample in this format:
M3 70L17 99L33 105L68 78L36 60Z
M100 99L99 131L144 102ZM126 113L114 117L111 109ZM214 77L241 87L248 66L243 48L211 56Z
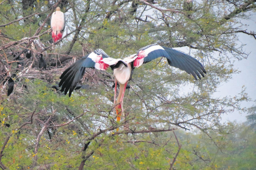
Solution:
M222 82L239 73L234 60L248 56L237 33L247 34L240 21L253 16L246 11L255 9L254 2L193 1L187 10L183 1L174 0L151 5L63 0L58 6L66 15L68 36L58 44L47 32L56 1L0 3L2 169L78 169L80 164L92 170L256 167L253 115L248 126L220 123L225 113L247 112L240 107L249 100L245 87L237 96L213 96ZM70 98L52 88L70 65L68 59L73 62L96 48L124 58L151 43L187 47L180 50L190 50L207 70L206 77L196 81L171 68L165 58L135 68L120 123L112 70L86 69L83 84L89 87L75 90ZM14 54L26 49L32 51L30 59L22 53L13 61ZM41 53L46 70L39 68ZM2 81L8 76L15 81L10 96Z

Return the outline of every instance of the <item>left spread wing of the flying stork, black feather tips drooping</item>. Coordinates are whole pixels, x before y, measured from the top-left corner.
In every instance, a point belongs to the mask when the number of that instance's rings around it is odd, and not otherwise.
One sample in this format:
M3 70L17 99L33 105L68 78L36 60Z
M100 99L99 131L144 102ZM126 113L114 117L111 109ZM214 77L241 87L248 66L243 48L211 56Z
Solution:
M90 54L77 60L74 64L68 67L60 76L59 87L62 86L61 92L69 97L75 89L76 84L83 78L85 68L96 68L98 70L106 70L109 65L102 61L103 58L109 57L102 49L96 49Z

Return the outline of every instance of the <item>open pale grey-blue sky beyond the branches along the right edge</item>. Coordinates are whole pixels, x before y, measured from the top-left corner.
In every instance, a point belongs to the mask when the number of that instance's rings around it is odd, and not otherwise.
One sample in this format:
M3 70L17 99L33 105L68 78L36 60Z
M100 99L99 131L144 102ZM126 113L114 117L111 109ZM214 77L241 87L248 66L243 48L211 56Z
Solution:
M243 23L249 25L246 29L247 32L256 31L256 15L252 16L253 20L246 20ZM223 83L217 90L219 92L215 93L217 96L235 96L242 90L242 86L245 85L245 92L248 93L252 100L256 100L256 40L253 37L239 33L240 42L246 44L244 50L250 53L247 59L241 61L236 61L234 67L239 69L241 72L239 74L234 74L233 78L228 83ZM242 107L252 107L256 106L256 102L243 102ZM224 121L237 121L245 122L246 113L238 114L237 112L229 113L222 116Z

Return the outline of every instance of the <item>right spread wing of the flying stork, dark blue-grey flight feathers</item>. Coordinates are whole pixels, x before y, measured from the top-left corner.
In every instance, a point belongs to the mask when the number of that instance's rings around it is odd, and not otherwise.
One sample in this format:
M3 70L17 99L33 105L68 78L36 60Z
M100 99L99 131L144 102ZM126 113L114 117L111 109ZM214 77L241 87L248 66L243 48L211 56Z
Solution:
M139 49L137 55L138 57L133 63L134 67L139 67L143 63L147 63L158 57L165 57L170 66L174 66L186 71L188 74L192 74L196 80L197 77L201 79L201 75L204 77L204 74L206 74L204 67L198 60L190 55L166 46L151 44Z

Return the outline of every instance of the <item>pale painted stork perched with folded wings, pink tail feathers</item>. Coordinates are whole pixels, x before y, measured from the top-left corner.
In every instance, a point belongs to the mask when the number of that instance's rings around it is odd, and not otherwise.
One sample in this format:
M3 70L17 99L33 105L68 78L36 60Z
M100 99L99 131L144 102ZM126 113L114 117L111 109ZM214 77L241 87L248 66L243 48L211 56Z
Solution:
M60 11L60 7L57 7L56 11L52 14L52 19L51 19L53 42L57 42L62 38L65 25L66 25L65 15L63 12Z

